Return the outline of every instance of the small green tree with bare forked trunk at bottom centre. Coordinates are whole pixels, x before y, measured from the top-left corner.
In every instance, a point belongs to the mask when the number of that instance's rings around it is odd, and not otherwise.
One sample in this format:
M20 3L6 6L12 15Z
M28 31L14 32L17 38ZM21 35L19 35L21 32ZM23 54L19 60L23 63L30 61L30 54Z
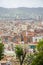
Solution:
M15 53L20 61L20 65L22 65L26 57L26 49L23 49L21 46L16 46Z

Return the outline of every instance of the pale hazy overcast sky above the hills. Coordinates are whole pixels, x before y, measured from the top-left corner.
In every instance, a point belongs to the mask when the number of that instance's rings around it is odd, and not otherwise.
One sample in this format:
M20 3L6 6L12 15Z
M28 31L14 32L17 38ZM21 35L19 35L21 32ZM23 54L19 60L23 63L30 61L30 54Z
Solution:
M0 0L0 7L43 7L43 0Z

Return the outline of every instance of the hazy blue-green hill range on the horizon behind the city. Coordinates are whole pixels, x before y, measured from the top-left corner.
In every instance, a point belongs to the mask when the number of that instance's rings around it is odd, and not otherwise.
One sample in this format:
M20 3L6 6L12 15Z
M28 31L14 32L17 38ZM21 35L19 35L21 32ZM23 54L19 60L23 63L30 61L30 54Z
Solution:
M37 19L43 20L43 7L39 8L2 8L0 7L0 19Z

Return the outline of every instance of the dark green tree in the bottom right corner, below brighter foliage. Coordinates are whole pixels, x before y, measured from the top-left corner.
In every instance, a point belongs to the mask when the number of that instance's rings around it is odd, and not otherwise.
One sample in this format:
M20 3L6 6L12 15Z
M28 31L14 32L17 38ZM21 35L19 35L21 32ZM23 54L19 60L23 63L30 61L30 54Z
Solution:
M39 52L31 65L43 65L43 52Z

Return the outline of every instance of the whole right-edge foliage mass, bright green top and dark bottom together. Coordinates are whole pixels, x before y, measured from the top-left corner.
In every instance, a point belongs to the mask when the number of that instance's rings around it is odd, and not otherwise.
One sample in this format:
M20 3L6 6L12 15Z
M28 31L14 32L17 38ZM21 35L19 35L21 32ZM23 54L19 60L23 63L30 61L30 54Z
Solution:
M32 61L31 65L43 65L43 40L40 40L37 45L37 56Z

